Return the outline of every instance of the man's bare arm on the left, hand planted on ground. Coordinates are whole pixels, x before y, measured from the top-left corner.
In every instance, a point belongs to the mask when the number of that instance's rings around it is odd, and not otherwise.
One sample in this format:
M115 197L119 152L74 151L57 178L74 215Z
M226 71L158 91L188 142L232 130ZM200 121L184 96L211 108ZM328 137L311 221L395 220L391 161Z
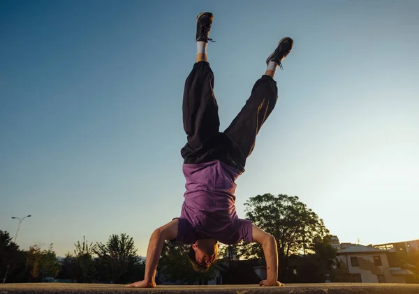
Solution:
M156 277L157 264L159 263L163 243L165 240L173 240L176 238L178 224L179 219L173 219L172 222L154 230L152 236L150 237L147 249L144 279L142 281L126 285L126 287L154 288L156 286L154 278Z

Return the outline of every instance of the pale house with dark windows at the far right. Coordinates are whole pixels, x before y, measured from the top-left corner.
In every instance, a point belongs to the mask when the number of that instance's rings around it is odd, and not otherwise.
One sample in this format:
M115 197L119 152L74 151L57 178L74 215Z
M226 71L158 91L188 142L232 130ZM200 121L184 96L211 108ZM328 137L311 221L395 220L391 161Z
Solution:
M394 249L379 249L372 245L342 243L337 256L346 265L350 281L358 283L406 283L406 277L413 275L413 273L403 268L391 267L389 256L395 253Z

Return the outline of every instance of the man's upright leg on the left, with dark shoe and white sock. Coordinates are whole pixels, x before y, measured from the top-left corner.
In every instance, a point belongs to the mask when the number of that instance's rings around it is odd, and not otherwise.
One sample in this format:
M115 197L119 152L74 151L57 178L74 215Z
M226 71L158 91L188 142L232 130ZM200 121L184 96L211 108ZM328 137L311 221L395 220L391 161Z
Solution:
M214 96L214 74L207 62L208 35L212 13L197 17L196 63L186 79L183 98L183 124L188 143L181 154L185 163L194 164L210 160L212 141L219 135L218 105Z

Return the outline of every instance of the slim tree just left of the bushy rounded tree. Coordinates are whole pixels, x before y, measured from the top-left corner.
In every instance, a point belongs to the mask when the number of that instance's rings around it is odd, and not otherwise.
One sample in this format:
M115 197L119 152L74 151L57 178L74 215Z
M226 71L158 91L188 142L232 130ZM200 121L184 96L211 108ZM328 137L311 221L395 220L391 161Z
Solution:
M86 283L91 281L95 274L95 263L93 260L93 255L96 250L96 245L93 245L93 242L89 243L86 241L86 238L83 236L83 242L78 241L75 244L74 254L75 261L78 265L78 269L81 273L81 281Z

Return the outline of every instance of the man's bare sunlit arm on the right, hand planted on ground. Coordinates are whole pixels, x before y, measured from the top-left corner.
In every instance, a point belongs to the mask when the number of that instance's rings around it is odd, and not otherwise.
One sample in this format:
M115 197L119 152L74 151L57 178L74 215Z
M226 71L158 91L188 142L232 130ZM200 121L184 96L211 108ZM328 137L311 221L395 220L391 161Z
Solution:
M278 279L278 249L277 241L273 235L266 233L252 224L251 233L253 235L253 242L257 242L263 247L263 253L266 260L267 277L260 281L260 286L284 286L279 283Z

